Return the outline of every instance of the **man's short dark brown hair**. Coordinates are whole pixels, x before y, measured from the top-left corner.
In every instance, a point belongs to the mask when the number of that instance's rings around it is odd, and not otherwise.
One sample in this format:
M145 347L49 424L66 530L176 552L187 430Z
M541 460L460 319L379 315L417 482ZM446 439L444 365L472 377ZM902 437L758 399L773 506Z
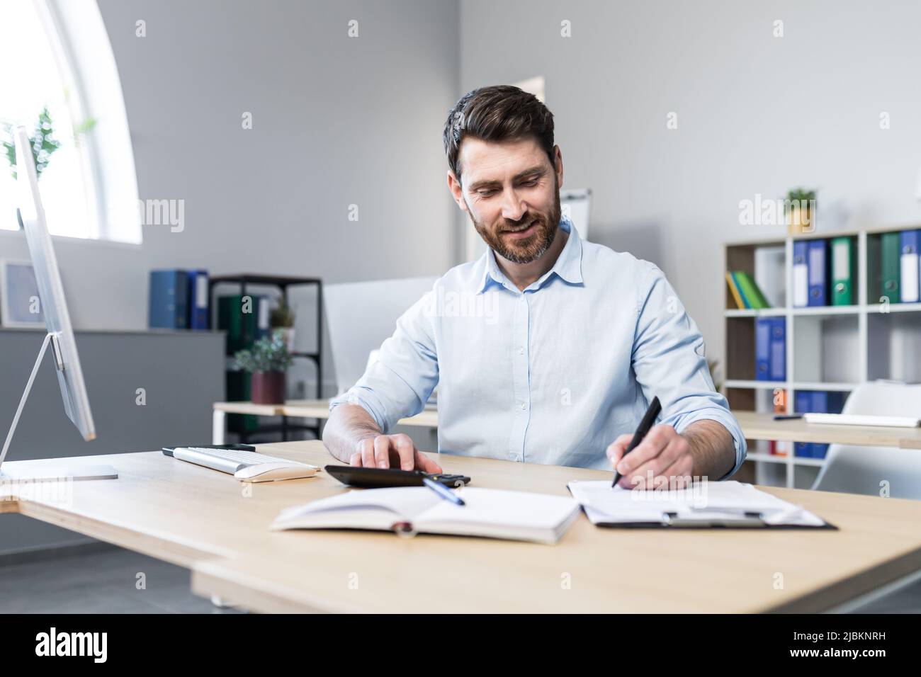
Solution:
M554 114L533 94L511 85L473 89L461 97L445 123L448 166L461 181L461 141L512 141L532 136L554 166Z

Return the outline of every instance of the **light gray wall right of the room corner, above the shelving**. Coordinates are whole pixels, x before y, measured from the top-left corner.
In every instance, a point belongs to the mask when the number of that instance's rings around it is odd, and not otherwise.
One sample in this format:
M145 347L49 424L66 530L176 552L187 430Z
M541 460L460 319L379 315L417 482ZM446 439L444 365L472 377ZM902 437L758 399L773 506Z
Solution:
M783 230L740 200L803 184L823 227L921 221L918 26L916 2L461 0L461 90L546 77L591 239L658 263L721 357L722 245Z

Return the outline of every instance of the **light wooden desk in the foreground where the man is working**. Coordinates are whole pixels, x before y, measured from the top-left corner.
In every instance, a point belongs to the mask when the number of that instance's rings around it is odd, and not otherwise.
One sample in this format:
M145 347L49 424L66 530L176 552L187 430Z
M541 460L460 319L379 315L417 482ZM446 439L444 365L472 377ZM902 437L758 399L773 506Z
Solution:
M332 461L317 441L261 449ZM433 458L448 472L471 475L476 486L558 495L565 495L568 480L611 476ZM158 451L68 462L109 463L120 478L70 484L64 500L7 487L13 498L0 502L0 512L17 511L189 567L195 592L259 612L816 612L921 568L921 501L765 487L840 531L620 531L593 527L583 515L550 546L273 532L268 525L281 508L344 488L325 473L244 485Z

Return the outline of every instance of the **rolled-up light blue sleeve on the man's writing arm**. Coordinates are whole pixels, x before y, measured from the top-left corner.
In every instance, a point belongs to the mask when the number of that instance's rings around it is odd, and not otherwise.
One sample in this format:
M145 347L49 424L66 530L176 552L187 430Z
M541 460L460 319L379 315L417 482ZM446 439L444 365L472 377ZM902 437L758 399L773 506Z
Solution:
M647 263L647 281L639 286L633 350L636 380L647 401L658 396L661 423L681 433L695 421L712 420L732 436L736 460L727 479L745 461L745 438L716 391L706 363L704 337L687 314L665 275Z

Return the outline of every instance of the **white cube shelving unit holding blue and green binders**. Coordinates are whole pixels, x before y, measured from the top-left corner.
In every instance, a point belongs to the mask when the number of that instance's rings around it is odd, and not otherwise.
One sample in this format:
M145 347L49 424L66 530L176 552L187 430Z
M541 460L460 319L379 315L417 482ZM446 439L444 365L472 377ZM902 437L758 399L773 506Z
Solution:
M729 242L724 272L744 270L772 301L769 309L738 309L725 288L723 390L733 409L773 412L775 399L784 413L794 413L797 391L849 392L875 379L921 380L921 303L882 304L878 282L868 279L868 241L882 233L918 228L901 226L791 235L777 239ZM849 306L793 307L793 243L803 239L853 238L857 246L857 303ZM768 262L768 263L765 263ZM777 270L760 269L775 266ZM766 287L766 288L765 288ZM787 380L754 379L756 318L786 318ZM755 481L783 482L788 487L811 483L824 459L800 458L792 443L786 455L767 451L768 443L752 441L748 461ZM798 468L804 482L798 484ZM780 473L783 477L780 476Z

